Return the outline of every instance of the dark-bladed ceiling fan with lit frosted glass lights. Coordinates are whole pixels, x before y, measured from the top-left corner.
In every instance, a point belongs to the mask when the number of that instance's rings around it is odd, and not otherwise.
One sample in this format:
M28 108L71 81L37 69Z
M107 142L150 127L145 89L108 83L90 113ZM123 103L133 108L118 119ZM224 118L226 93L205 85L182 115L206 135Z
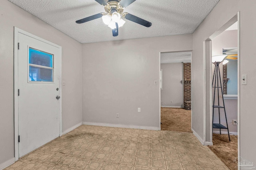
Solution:
M112 29L112 34L114 37L118 36L118 28L122 27L125 23L125 21L122 20L122 18L133 21L145 27L150 27L152 25L151 22L143 20L142 18L139 18L127 12L123 13L124 8L126 8L136 0L113 0L111 2L106 2L105 0L95 1L105 7L106 13L95 14L93 16L77 20L76 23L85 23L102 17L103 22Z

